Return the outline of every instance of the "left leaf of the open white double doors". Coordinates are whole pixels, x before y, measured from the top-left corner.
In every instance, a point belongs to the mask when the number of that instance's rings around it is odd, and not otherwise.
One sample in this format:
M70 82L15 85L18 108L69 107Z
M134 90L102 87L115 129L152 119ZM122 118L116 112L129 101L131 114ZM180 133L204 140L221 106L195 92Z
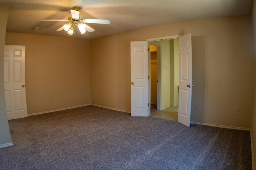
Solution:
M131 116L148 116L148 42L131 42Z

